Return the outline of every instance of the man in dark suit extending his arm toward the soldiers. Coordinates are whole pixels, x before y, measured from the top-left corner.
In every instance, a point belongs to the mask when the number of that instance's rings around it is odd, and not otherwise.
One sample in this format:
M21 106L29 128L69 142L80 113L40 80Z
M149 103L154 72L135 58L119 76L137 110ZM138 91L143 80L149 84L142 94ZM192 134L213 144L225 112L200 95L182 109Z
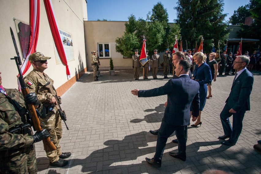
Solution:
M189 78L190 64L188 60L180 60L176 64L176 75L178 79L170 79L164 86L151 90L131 91L138 97L155 97L168 95L167 106L161 127L157 137L156 153L152 159L146 158L149 164L161 167L161 159L168 137L176 131L178 138L178 153L169 154L174 158L186 160L186 135L185 130L190 124L190 105L192 103L192 121L199 115L199 83Z

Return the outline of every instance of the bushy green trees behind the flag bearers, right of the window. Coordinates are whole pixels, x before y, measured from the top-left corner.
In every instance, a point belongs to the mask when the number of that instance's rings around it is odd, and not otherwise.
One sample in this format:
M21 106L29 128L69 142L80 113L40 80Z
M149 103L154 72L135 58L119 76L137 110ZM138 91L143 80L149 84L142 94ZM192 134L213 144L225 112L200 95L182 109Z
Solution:
M175 39L175 35L180 35L179 25L173 24L172 27L168 25L168 13L161 2L153 6L152 11L147 14L146 20L142 18L136 20L133 14L128 19L129 21L125 23L123 36L117 37L115 40L116 52L126 57L131 57L135 49L140 51L144 37L146 49L150 54L154 49L158 49L158 52L165 51L168 45L167 38L170 43ZM174 39L170 36L174 36Z

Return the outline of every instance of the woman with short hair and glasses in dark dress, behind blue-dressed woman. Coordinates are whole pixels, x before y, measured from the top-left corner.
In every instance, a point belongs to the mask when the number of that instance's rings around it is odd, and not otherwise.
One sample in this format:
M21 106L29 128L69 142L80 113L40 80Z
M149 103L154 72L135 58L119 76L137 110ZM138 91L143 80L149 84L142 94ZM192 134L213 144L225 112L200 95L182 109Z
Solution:
M215 52L211 52L209 54L209 61L207 62L208 66L210 67L210 71L211 71L211 77L212 80L215 82L217 80L217 68L218 68L218 64L217 61L214 59L216 57L216 53ZM207 84L207 90L208 90L208 96L207 99L211 99L212 94L211 94L211 83Z

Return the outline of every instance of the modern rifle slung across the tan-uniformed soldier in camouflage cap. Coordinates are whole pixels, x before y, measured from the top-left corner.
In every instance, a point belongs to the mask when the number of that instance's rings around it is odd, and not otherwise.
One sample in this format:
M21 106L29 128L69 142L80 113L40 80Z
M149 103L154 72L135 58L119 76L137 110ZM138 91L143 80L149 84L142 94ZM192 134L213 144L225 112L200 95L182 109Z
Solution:
M49 90L49 92L55 97L55 100L56 100L56 102L57 102L57 105L55 105L54 107L57 108L61 119L63 120L63 122L64 122L64 124L65 124L67 130L69 130L69 128L68 128L68 126L66 125L66 122L65 122L65 121L67 120L65 111L62 110L62 108L61 108L61 106L60 106L60 104L62 104L62 102L61 102L61 97L60 97L60 96L57 96L57 92L56 92L55 88L54 88L53 86L51 86L51 82L46 83L46 84L44 85L44 87L46 87L46 88Z

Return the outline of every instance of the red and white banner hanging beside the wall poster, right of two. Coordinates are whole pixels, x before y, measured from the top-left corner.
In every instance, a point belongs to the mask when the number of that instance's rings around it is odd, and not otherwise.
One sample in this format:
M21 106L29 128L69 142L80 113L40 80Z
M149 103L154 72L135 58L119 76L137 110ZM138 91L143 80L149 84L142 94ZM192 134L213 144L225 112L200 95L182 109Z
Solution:
M62 63L66 66L66 74L69 79L69 78L71 78L71 74L70 74L70 70L68 68L65 50L64 50L64 47L62 44L62 38L60 37L60 34L59 34L58 24L57 24L57 21L55 18L54 9L53 9L51 0L44 0L44 6L45 6L46 13L47 13L47 18L49 21L49 25L51 28L51 32L53 35L53 39L55 42L57 52L59 54L59 57L60 57Z

